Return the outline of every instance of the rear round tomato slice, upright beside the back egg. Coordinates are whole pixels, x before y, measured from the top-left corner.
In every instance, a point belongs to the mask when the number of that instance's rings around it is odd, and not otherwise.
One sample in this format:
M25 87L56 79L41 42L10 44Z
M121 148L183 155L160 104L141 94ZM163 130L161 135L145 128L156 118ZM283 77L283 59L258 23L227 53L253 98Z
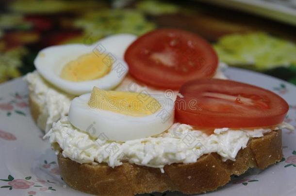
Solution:
M125 52L130 74L148 85L180 89L186 81L210 78L218 58L212 46L194 33L159 29L139 37Z

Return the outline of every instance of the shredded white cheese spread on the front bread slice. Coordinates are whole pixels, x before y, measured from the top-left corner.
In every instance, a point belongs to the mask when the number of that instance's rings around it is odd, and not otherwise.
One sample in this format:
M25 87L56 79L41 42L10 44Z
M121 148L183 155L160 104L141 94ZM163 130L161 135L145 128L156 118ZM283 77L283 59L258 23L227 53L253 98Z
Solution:
M274 130L282 128L294 129L283 122ZM107 163L110 167L115 167L129 162L164 171L165 165L195 163L201 155L212 152L217 152L223 161L234 161L237 152L247 147L250 138L262 137L271 131L269 128L222 128L215 129L214 134L209 136L202 131L194 130L192 126L175 123L158 136L119 143L109 141L104 133L98 138L92 138L86 132L73 127L68 118L64 117L53 123L52 129L45 137L49 137L56 153L62 152L64 157L81 164Z

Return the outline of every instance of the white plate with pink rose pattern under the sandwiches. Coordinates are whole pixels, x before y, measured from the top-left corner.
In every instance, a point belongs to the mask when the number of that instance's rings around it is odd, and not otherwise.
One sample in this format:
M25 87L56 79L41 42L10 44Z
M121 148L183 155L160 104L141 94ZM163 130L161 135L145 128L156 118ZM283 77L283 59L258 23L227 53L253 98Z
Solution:
M285 121L296 126L295 86L267 75L237 68L229 68L225 74L230 79L261 86L280 94L291 106ZM56 156L50 150L48 141L41 139L43 134L30 115L27 96L27 85L22 79L0 85L0 195L87 195L71 189L61 179ZM283 130L284 161L264 171L249 170L243 176L233 178L226 186L207 195L295 196L295 141L294 132ZM154 195L181 196L182 194Z

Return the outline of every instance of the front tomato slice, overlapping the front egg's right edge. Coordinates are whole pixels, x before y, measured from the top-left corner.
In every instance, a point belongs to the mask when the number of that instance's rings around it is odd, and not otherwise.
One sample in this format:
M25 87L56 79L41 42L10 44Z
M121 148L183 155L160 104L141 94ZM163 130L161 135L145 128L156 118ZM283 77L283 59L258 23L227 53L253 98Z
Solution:
M180 93L175 102L176 121L200 127L272 126L281 123L289 110L279 95L231 80L189 81Z

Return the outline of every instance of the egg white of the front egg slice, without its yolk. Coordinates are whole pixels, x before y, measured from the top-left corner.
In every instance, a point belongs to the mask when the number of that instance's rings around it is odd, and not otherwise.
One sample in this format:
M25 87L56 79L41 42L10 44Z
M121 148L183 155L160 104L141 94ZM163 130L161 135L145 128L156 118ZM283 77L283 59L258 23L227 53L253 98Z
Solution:
M72 100L69 121L76 128L89 135L104 137L113 141L128 141L155 136L167 130L174 122L174 101L163 95L151 95L162 100L161 108L155 113L133 117L108 110L93 109L88 106L90 93Z

